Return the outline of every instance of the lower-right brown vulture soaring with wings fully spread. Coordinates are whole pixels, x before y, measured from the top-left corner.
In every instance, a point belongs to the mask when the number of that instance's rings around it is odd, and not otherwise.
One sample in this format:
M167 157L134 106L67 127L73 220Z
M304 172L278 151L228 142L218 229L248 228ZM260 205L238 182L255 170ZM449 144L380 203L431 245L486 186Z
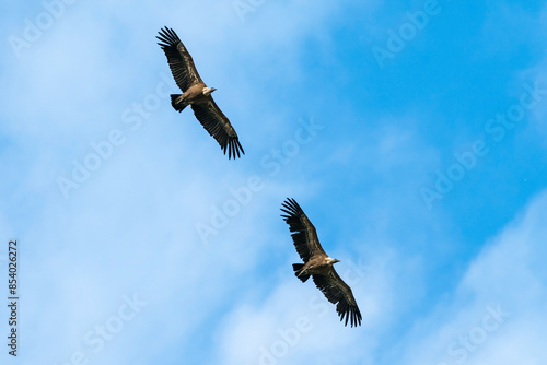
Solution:
M287 199L282 203L281 211L286 213L281 217L289 224L290 232L293 232L294 247L304 261L292 266L296 278L304 283L312 276L315 285L330 303L336 305L340 321L346 318L345 326L348 326L348 320L351 327L361 326L361 311L351 289L338 276L333 267L340 260L328 257L323 250L315 227L294 199Z

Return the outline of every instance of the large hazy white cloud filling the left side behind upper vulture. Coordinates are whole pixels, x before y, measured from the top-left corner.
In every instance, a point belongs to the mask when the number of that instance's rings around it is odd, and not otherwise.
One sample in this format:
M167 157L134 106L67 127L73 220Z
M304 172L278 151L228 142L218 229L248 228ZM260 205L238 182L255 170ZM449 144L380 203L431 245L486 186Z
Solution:
M263 233L269 229L271 207L277 223L279 197L288 190L284 181L253 169L247 156L229 162L190 110L176 114L166 102L137 131L121 122L125 108L154 92L161 72L171 78L155 44L160 27L172 26L187 43L252 151L254 136L259 137L257 145L264 144L253 126L294 116L260 109L261 103L270 103L270 91L252 90L253 78L241 75L263 64L242 60L251 52L263 55L260 49L282 49L284 62L293 62L303 37L330 14L330 5L311 1L307 7L316 12L303 13L304 5L298 3L283 10L272 2L274 17L268 8L256 14L269 19L267 23L241 24L230 1L213 7L201 1L104 5L79 2L67 9L20 60L8 61L11 71L2 76L11 90L1 102L9 106L2 110L2 132L12 142L10 153L18 156L8 161L7 170L21 177L2 196L11 207L24 197L33 209L16 222L16 229L1 221L2 232L25 243L21 330L27 345L23 360L30 364L67 363L79 351L90 364L149 364L165 348L191 349L193 334L205 323L216 325L211 313L222 314L233 302L232 292L242 290L242 280L270 244ZM281 23L282 32L275 31ZM257 32L269 34L268 42L258 42ZM236 81L230 72L233 64L241 67ZM270 61L268 70L279 73L282 67ZM252 120L237 118L245 108L256 111L248 111ZM106 139L113 128L124 130L125 143L65 200L56 178L69 177L72 160L82 162L92 152L90 143ZM294 127L289 128L293 133ZM229 188L241 187L253 174L267 179L265 189L205 246L196 223L207 221L210 207L230 198ZM290 190L304 188L296 182ZM86 333L115 316L123 296L133 293L148 305L95 354L84 342Z

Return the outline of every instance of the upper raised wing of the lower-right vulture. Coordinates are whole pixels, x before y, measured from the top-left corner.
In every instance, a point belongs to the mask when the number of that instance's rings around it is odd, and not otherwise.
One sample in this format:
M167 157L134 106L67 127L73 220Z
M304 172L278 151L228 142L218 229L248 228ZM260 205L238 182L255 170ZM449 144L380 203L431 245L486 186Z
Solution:
M295 232L292 234L292 240L300 258L307 262L310 258L317 254L325 254L323 247L321 247L319 238L317 238L317 232L312 222L307 219L302 208L299 203L291 198L288 198L281 208L281 211L287 213L287 215L281 215L283 220L289 224L289 229Z

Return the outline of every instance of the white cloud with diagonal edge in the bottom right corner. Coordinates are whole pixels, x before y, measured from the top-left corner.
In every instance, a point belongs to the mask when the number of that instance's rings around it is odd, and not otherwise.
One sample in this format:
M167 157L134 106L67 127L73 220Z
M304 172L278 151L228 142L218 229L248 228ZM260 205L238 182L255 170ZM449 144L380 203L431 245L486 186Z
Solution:
M545 363L546 209L543 192L486 246L455 293L405 337L397 363Z

